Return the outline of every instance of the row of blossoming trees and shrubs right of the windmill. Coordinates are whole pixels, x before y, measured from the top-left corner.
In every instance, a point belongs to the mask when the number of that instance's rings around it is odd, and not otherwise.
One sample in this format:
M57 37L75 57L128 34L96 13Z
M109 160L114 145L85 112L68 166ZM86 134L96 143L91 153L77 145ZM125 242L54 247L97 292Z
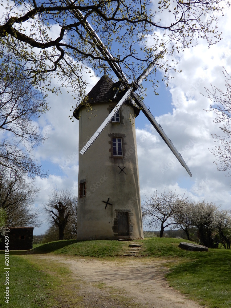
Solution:
M192 240L195 231L201 245L217 248L219 243L225 249L231 246L231 212L219 210L212 202L190 201L176 192L157 192L143 204L142 214L148 220L149 227L160 228L160 237L164 229L180 227L188 240Z

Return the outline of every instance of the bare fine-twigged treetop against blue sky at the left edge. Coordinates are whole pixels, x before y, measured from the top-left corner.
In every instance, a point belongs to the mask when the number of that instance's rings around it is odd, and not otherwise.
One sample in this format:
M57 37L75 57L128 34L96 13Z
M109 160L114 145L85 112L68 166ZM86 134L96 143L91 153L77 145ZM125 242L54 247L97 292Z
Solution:
M0 63L0 165L43 177L31 152L45 140L33 122L47 110L47 103L23 69L9 65L6 55Z

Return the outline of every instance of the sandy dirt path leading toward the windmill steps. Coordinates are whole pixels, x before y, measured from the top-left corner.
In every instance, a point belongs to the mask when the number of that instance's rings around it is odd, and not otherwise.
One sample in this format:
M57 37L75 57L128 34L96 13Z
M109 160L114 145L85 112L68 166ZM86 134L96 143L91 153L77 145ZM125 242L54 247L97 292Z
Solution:
M115 287L122 291L124 296L132 297L134 302L141 303L141 306L147 305L150 308L201 308L199 304L186 299L184 295L168 286L164 279L166 268L163 266L163 261L143 261L133 258L121 259L121 261L102 261L93 258L83 259L58 255L37 255L37 257L59 261L69 266L73 278L81 278L87 282L82 290L83 293L84 290L86 291L86 297L90 293L94 296L93 289L96 293L99 291L96 291L98 288L93 284L105 283L109 287ZM99 307L113 308L113 304L112 306L110 304L109 306Z

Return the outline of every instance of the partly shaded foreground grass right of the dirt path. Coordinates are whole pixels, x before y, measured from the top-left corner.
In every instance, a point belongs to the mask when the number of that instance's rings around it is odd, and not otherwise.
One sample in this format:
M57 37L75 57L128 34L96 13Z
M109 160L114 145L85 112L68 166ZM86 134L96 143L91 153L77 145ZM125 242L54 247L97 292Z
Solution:
M170 286L211 308L231 307L231 251L210 249L197 260L174 266Z

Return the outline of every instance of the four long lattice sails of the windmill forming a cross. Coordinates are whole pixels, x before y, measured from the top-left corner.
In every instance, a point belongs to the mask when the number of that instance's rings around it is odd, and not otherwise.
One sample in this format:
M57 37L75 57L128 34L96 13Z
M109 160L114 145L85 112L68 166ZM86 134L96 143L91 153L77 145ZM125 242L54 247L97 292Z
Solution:
M110 52L107 50L107 48L104 46L103 42L100 40L99 36L95 33L94 29L91 27L89 22L87 22L84 15L79 11L76 10L76 17L79 19L81 24L83 25L84 29L91 35L92 41L95 43L99 51L105 56L106 59L108 59L108 64L114 71L115 75L122 81L122 84L127 88L127 91L125 92L122 99L120 99L119 103L116 105L116 107L111 111L111 113L108 115L108 117L103 121L103 123L100 125L100 127L97 129L97 131L92 135L92 137L87 141L85 146L80 151L81 154L84 154L87 152L87 150L90 148L91 144L98 138L98 136L101 134L103 129L107 126L107 124L110 122L111 118L114 116L116 111L123 105L123 103L128 99L128 96L131 94L137 102L137 105L142 108L142 111L144 112L144 115L147 117L147 119L150 121L150 123L153 125L153 127L156 129L158 134L161 136L161 138L164 140L164 142L168 145L172 153L176 156L177 160L180 162L180 164L186 169L188 174L192 177L192 173L190 172L187 164L185 163L183 157L180 155L180 153L176 150L175 146L173 145L172 141L168 138L168 136L165 134L164 130L160 126L160 124L157 123L156 119L152 115L151 111L146 107L144 102L140 99L140 97L134 92L139 87L139 85L142 83L142 81L148 76L148 74L152 71L154 67L154 63L150 63L147 69L136 79L136 82L132 85L129 85L128 79L124 75L123 71L121 70L118 63L115 63L113 60L113 56L110 54Z

